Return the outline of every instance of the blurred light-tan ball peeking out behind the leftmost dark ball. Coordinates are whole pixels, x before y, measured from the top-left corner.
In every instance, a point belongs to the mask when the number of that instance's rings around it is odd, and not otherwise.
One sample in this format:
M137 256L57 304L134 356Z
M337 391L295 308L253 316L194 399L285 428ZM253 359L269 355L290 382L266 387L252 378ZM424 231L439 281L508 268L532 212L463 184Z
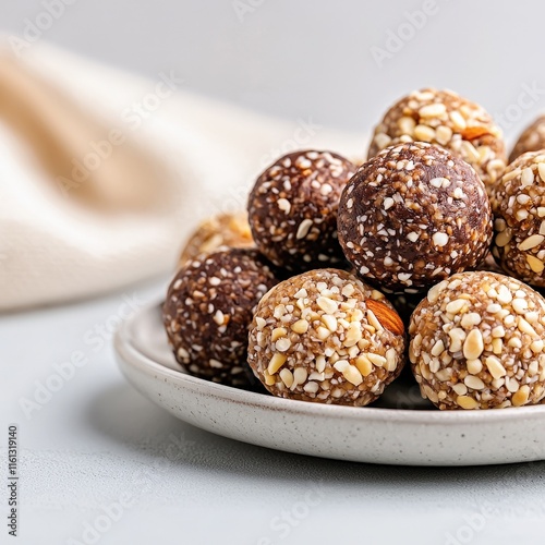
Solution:
M254 247L245 211L219 214L203 221L182 250L178 270L201 254L227 247Z

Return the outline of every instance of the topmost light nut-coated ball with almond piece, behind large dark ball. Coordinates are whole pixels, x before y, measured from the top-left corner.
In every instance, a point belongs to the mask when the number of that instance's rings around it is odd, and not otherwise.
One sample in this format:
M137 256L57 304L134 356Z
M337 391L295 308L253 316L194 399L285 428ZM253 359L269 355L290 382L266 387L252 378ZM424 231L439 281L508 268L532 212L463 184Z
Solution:
M477 104L452 90L415 90L393 105L376 126L367 154L385 147L429 142L469 162L488 187L506 167L501 130Z

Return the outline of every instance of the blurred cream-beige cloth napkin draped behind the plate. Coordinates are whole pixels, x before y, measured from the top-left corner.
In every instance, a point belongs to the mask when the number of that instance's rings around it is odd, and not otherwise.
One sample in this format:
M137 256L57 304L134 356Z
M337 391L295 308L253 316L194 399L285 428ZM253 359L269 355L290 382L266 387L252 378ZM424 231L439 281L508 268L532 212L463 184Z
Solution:
M271 119L48 45L0 53L0 310L92 296L172 270L195 225L243 208L279 154L351 157L362 134Z

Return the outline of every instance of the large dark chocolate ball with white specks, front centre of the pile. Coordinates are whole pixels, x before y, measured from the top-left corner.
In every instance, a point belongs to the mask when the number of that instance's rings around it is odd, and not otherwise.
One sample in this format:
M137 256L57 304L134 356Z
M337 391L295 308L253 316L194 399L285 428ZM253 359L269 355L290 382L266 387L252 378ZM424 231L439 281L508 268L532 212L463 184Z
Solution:
M492 213L474 169L423 142L383 149L339 205L339 242L383 290L417 293L473 268L488 251Z

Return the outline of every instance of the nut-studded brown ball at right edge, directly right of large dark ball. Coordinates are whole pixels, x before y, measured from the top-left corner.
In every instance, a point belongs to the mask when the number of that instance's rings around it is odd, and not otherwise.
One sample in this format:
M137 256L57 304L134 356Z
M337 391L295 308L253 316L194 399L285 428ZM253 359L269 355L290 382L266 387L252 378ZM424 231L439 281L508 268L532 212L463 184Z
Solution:
M494 257L509 275L545 287L545 150L529 152L511 162L491 203Z

